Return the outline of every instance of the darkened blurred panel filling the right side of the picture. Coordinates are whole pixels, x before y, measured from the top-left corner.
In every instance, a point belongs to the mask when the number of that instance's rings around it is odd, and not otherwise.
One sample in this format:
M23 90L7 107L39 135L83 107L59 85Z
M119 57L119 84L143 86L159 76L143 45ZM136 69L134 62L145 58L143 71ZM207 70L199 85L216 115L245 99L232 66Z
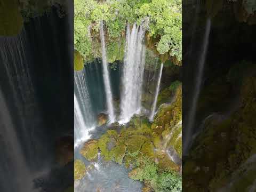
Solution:
M183 191L255 191L255 1L182 3Z

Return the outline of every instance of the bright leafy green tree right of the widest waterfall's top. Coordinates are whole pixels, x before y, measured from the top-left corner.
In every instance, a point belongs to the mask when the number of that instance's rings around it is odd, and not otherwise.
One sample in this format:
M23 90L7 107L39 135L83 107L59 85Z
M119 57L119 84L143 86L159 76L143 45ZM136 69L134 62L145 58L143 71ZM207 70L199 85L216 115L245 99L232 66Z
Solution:
M182 15L181 1L152 0L143 4L139 10L140 18L149 17L150 35L160 36L157 51L160 54L169 52L171 56L181 60L182 52Z

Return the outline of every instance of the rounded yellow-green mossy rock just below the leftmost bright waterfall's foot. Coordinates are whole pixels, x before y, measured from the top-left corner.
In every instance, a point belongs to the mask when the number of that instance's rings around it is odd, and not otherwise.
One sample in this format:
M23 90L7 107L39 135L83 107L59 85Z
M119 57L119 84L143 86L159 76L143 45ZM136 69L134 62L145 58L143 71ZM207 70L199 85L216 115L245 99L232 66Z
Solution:
M91 140L86 142L80 150L80 154L82 154L88 161L95 161L98 157L98 141Z

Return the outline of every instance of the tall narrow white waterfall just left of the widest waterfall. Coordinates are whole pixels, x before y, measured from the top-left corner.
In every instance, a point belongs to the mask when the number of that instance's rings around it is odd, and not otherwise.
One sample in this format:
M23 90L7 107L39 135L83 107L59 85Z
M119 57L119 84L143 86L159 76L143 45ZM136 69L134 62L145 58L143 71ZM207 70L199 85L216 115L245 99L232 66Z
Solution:
M102 65L103 65L103 79L106 92L107 109L110 123L115 122L114 106L113 106L113 96L110 86L108 62L106 55L105 37L103 30L103 22L100 22L100 41L101 41L101 52L102 52Z

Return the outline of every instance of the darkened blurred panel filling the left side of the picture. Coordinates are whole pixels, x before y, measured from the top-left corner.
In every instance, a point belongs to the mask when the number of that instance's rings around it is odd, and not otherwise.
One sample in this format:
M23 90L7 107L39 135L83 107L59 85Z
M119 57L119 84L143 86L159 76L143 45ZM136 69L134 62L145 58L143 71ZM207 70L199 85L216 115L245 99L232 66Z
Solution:
M0 190L65 191L74 177L72 1L0 2Z

